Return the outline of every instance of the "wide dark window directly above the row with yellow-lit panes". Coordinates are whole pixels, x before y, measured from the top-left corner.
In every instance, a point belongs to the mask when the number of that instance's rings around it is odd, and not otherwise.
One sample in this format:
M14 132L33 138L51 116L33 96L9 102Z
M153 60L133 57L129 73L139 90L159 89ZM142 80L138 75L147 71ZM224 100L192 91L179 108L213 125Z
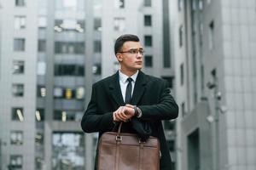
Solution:
M55 76L84 76L84 65L55 65Z

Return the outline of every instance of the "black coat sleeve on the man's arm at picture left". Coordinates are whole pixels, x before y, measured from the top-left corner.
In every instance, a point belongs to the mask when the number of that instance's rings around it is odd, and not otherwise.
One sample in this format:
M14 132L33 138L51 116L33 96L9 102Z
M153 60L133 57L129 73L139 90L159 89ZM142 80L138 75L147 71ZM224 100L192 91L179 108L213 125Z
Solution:
M98 113L96 87L92 86L91 99L81 121L85 133L106 132L113 128L113 112Z

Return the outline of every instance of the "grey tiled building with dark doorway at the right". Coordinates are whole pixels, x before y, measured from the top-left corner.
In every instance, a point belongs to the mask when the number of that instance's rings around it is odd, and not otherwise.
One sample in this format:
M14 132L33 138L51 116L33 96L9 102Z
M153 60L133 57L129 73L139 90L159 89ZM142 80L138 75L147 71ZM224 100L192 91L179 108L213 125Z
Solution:
M256 2L172 2L177 169L256 168Z

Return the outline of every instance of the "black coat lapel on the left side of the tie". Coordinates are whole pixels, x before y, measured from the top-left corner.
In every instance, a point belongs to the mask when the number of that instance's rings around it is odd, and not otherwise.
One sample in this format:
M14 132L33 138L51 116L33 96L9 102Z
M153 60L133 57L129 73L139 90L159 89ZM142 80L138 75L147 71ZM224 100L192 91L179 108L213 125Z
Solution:
M109 84L109 91L117 105L125 105L124 99L122 98L121 88L119 84L119 72L113 75Z

